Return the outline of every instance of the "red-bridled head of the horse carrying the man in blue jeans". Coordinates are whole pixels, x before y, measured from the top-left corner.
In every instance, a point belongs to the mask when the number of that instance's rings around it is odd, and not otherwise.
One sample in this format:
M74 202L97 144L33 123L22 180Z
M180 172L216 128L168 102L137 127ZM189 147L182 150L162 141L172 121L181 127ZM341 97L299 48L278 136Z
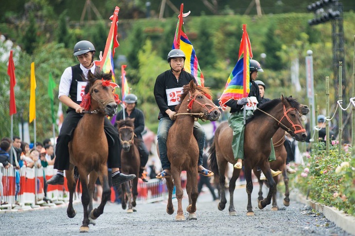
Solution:
M180 101L182 101L181 104L177 105L175 110L177 110L178 113L188 111L194 114L195 120L200 118L216 121L221 114L212 101L209 88L196 85L194 80L184 85L183 92L180 95Z

